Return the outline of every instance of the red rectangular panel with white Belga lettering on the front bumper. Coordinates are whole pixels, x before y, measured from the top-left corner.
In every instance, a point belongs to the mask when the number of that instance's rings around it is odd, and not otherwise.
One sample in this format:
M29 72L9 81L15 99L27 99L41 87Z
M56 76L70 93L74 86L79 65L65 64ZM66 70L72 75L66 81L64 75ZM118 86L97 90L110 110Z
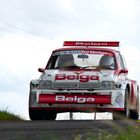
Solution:
M40 94L38 103L48 104L111 104L110 95Z

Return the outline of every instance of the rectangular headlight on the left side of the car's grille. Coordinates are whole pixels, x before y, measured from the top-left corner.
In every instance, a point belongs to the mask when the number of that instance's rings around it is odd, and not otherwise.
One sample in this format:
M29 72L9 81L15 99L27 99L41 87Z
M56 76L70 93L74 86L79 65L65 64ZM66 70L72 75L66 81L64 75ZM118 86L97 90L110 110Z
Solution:
M47 80L41 80L39 82L39 89L51 89L52 88L52 82Z

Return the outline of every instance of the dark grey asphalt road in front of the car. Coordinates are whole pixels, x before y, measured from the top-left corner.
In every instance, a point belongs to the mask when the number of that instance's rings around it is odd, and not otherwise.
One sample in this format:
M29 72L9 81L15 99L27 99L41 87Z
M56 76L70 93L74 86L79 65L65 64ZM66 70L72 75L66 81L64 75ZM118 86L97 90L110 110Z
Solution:
M139 126L130 120L1 121L1 140L86 140L88 134L116 134Z

